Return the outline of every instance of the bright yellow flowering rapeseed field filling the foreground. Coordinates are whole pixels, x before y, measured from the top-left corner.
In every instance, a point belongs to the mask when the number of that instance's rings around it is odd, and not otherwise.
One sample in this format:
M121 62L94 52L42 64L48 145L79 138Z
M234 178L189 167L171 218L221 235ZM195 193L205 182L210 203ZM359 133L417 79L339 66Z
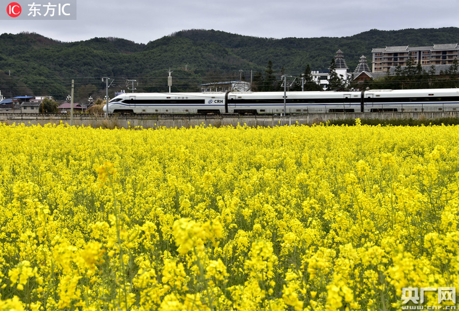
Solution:
M454 307L458 126L0 137L0 310Z

